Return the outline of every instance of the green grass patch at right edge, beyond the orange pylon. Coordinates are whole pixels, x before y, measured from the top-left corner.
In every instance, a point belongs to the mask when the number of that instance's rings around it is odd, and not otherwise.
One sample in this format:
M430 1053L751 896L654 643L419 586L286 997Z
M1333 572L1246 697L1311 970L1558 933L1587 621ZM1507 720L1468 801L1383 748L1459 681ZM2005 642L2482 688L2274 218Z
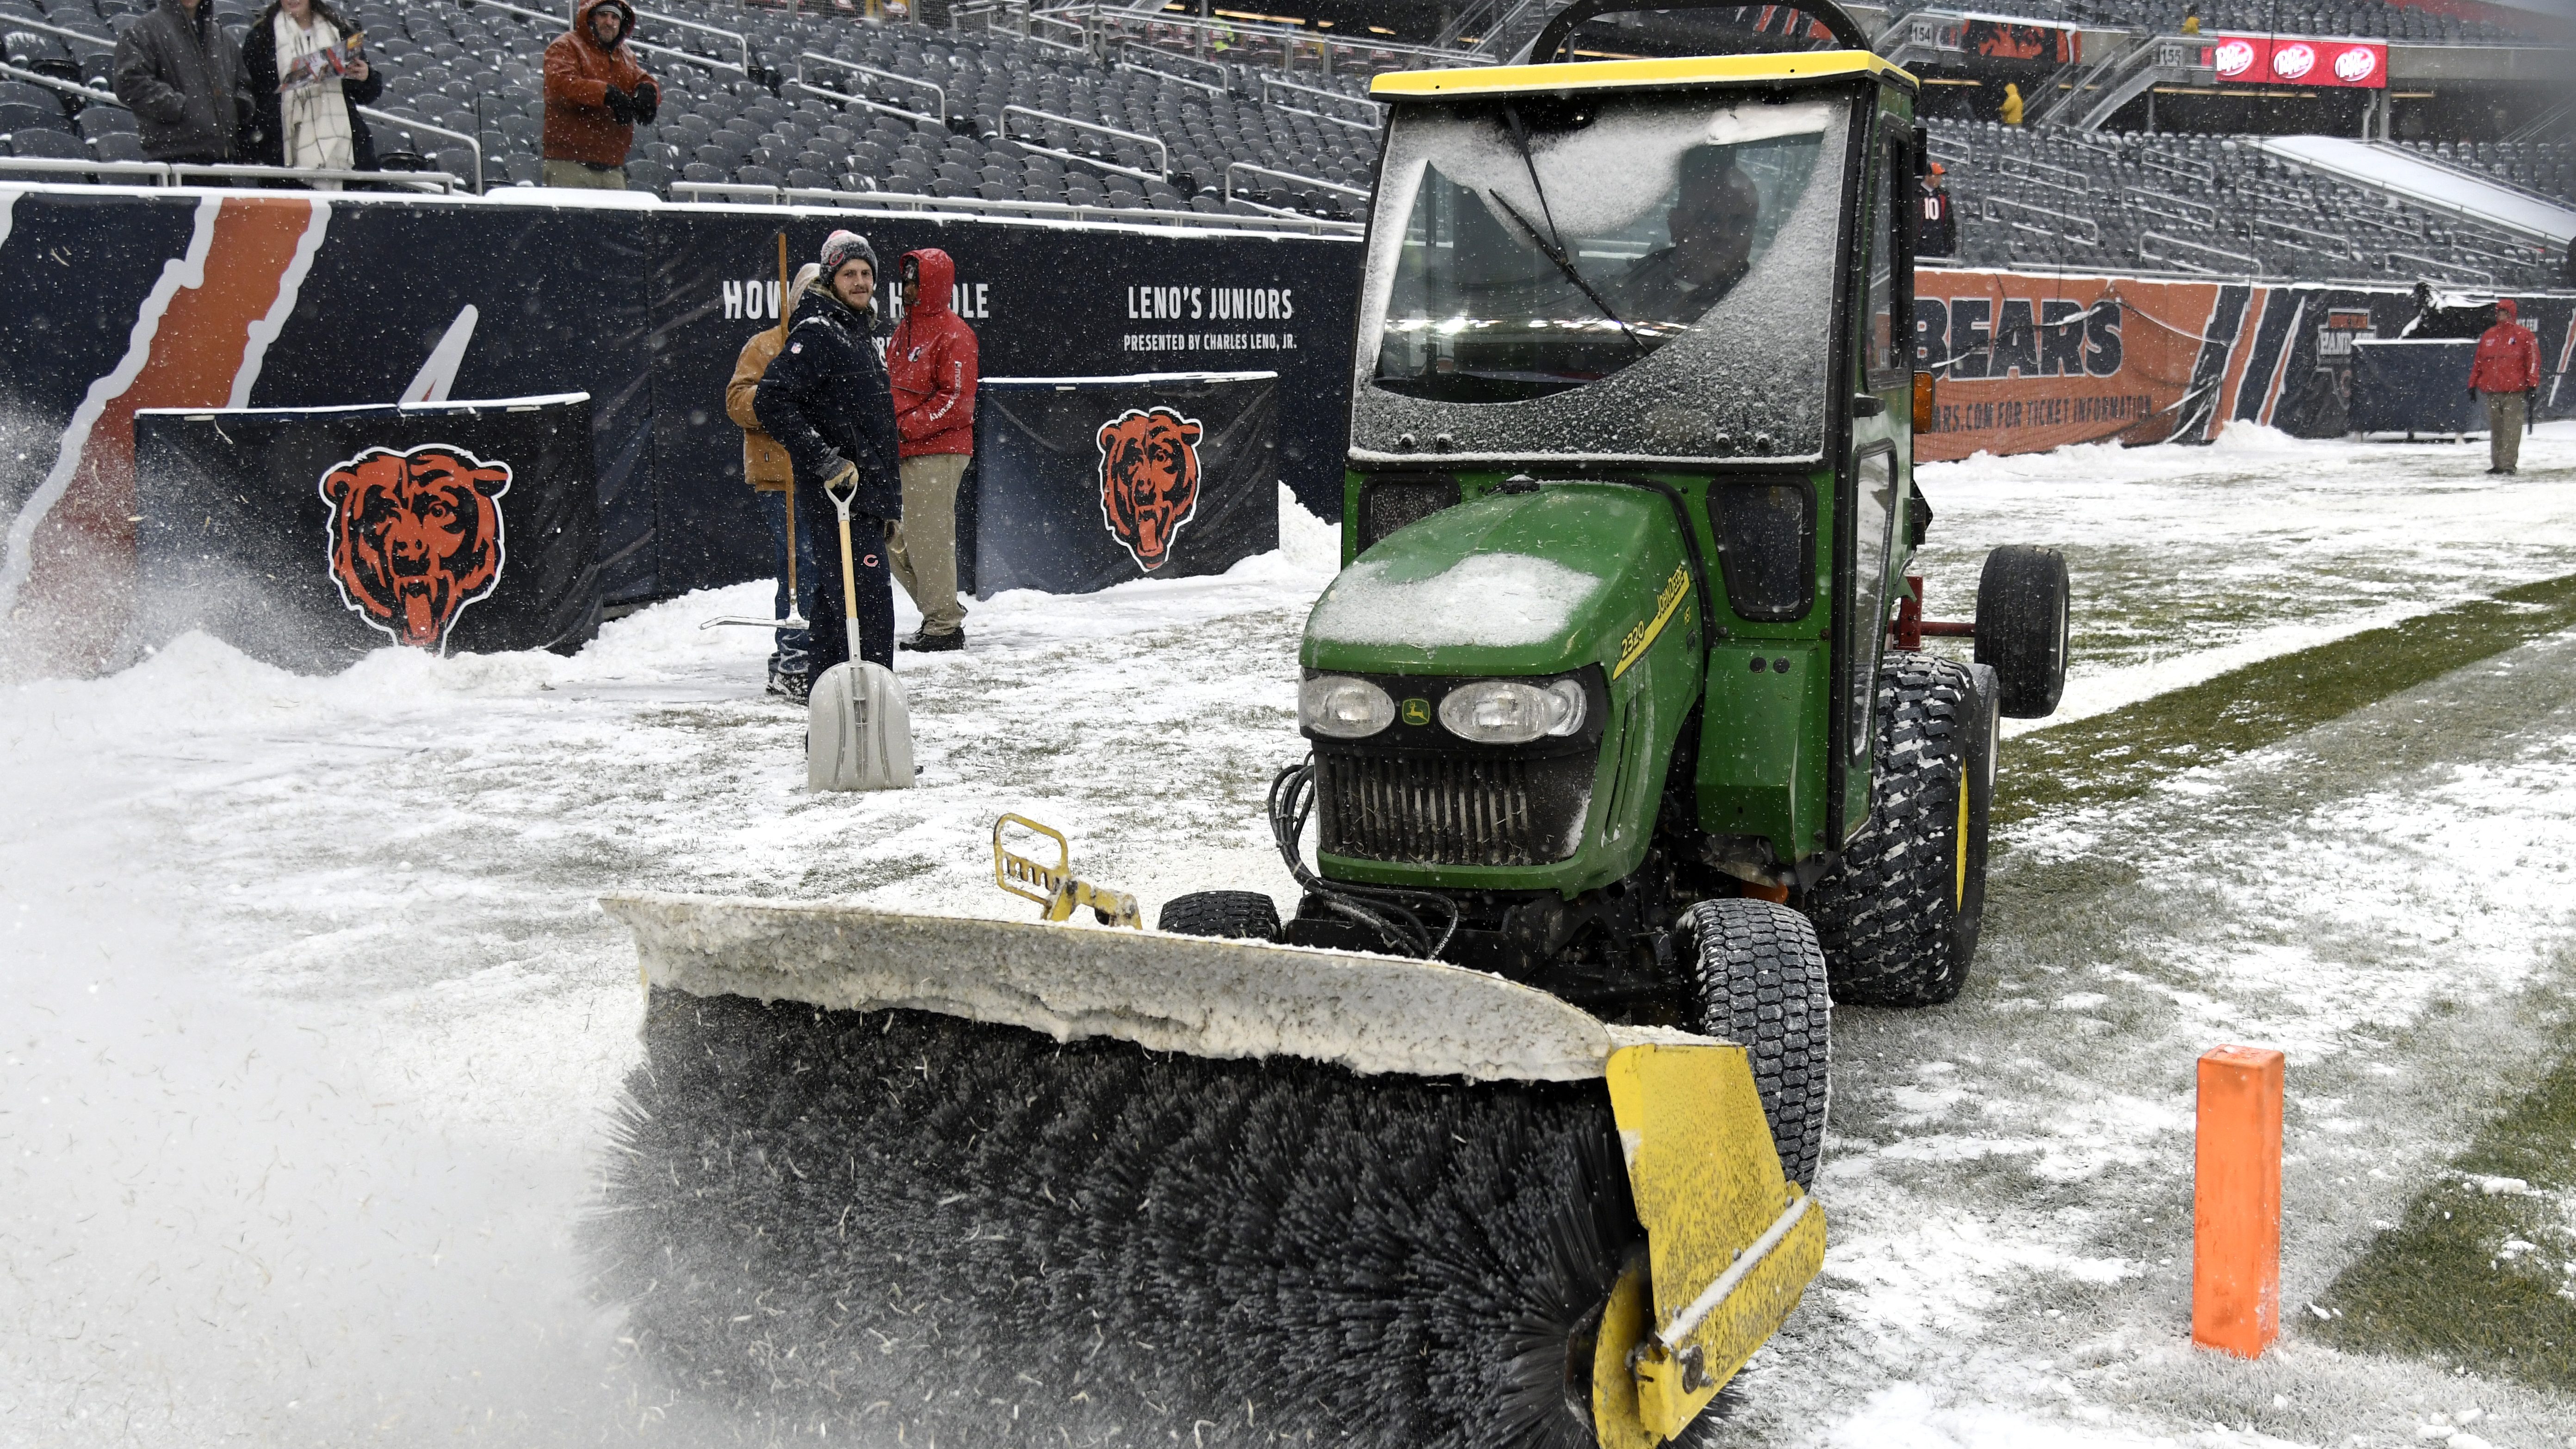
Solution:
M2460 1173L2522 1178L2488 1194L2445 1178L2326 1289L2342 1318L2313 1325L2336 1346L2458 1364L2543 1387L2576 1385L2576 1060L2455 1158ZM2532 1250L2506 1253L2506 1243Z

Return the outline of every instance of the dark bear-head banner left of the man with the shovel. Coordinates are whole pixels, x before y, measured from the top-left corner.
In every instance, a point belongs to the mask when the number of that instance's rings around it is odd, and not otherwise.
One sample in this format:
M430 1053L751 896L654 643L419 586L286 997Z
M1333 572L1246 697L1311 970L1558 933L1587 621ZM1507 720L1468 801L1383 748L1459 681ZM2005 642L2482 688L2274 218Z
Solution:
M590 397L134 415L142 637L291 670L600 627Z

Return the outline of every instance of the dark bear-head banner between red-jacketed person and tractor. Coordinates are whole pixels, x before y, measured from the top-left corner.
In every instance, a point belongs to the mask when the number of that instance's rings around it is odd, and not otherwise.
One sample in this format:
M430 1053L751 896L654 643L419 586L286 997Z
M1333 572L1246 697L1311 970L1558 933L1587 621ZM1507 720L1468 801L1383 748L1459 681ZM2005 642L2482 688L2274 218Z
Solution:
M1280 547L1275 371L987 376L958 583L1092 593Z

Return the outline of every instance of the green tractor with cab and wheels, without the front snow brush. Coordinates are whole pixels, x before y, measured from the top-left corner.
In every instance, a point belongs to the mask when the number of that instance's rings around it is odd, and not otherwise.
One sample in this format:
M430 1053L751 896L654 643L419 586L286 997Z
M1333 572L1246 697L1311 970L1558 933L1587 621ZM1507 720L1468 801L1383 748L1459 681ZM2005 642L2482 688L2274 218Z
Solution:
M1167 931L1435 957L1710 1036L1741 1036L1749 975L1958 995L1996 719L2056 709L2069 583L1996 549L1976 621L1932 627L1976 663L1922 652L1927 155L1914 80L1850 36L1378 77L1345 570L1298 660L1314 755L1270 799L1306 895L1285 923L1182 897ZM1814 1008L1757 1062L1795 1181Z

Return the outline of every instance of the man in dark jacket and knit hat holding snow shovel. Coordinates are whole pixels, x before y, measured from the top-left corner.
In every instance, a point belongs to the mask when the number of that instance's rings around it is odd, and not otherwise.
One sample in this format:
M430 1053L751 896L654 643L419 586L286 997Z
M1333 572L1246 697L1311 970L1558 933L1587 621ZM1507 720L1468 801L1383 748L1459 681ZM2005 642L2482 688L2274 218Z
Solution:
M788 322L788 345L760 379L752 415L796 467L796 529L817 539L814 632L806 668L850 657L840 596L840 513L827 490L850 498L850 572L858 580L858 657L894 668L894 585L886 523L904 516L894 392L876 343L876 250L858 232L832 232L822 276ZM791 688L793 694L793 688Z

